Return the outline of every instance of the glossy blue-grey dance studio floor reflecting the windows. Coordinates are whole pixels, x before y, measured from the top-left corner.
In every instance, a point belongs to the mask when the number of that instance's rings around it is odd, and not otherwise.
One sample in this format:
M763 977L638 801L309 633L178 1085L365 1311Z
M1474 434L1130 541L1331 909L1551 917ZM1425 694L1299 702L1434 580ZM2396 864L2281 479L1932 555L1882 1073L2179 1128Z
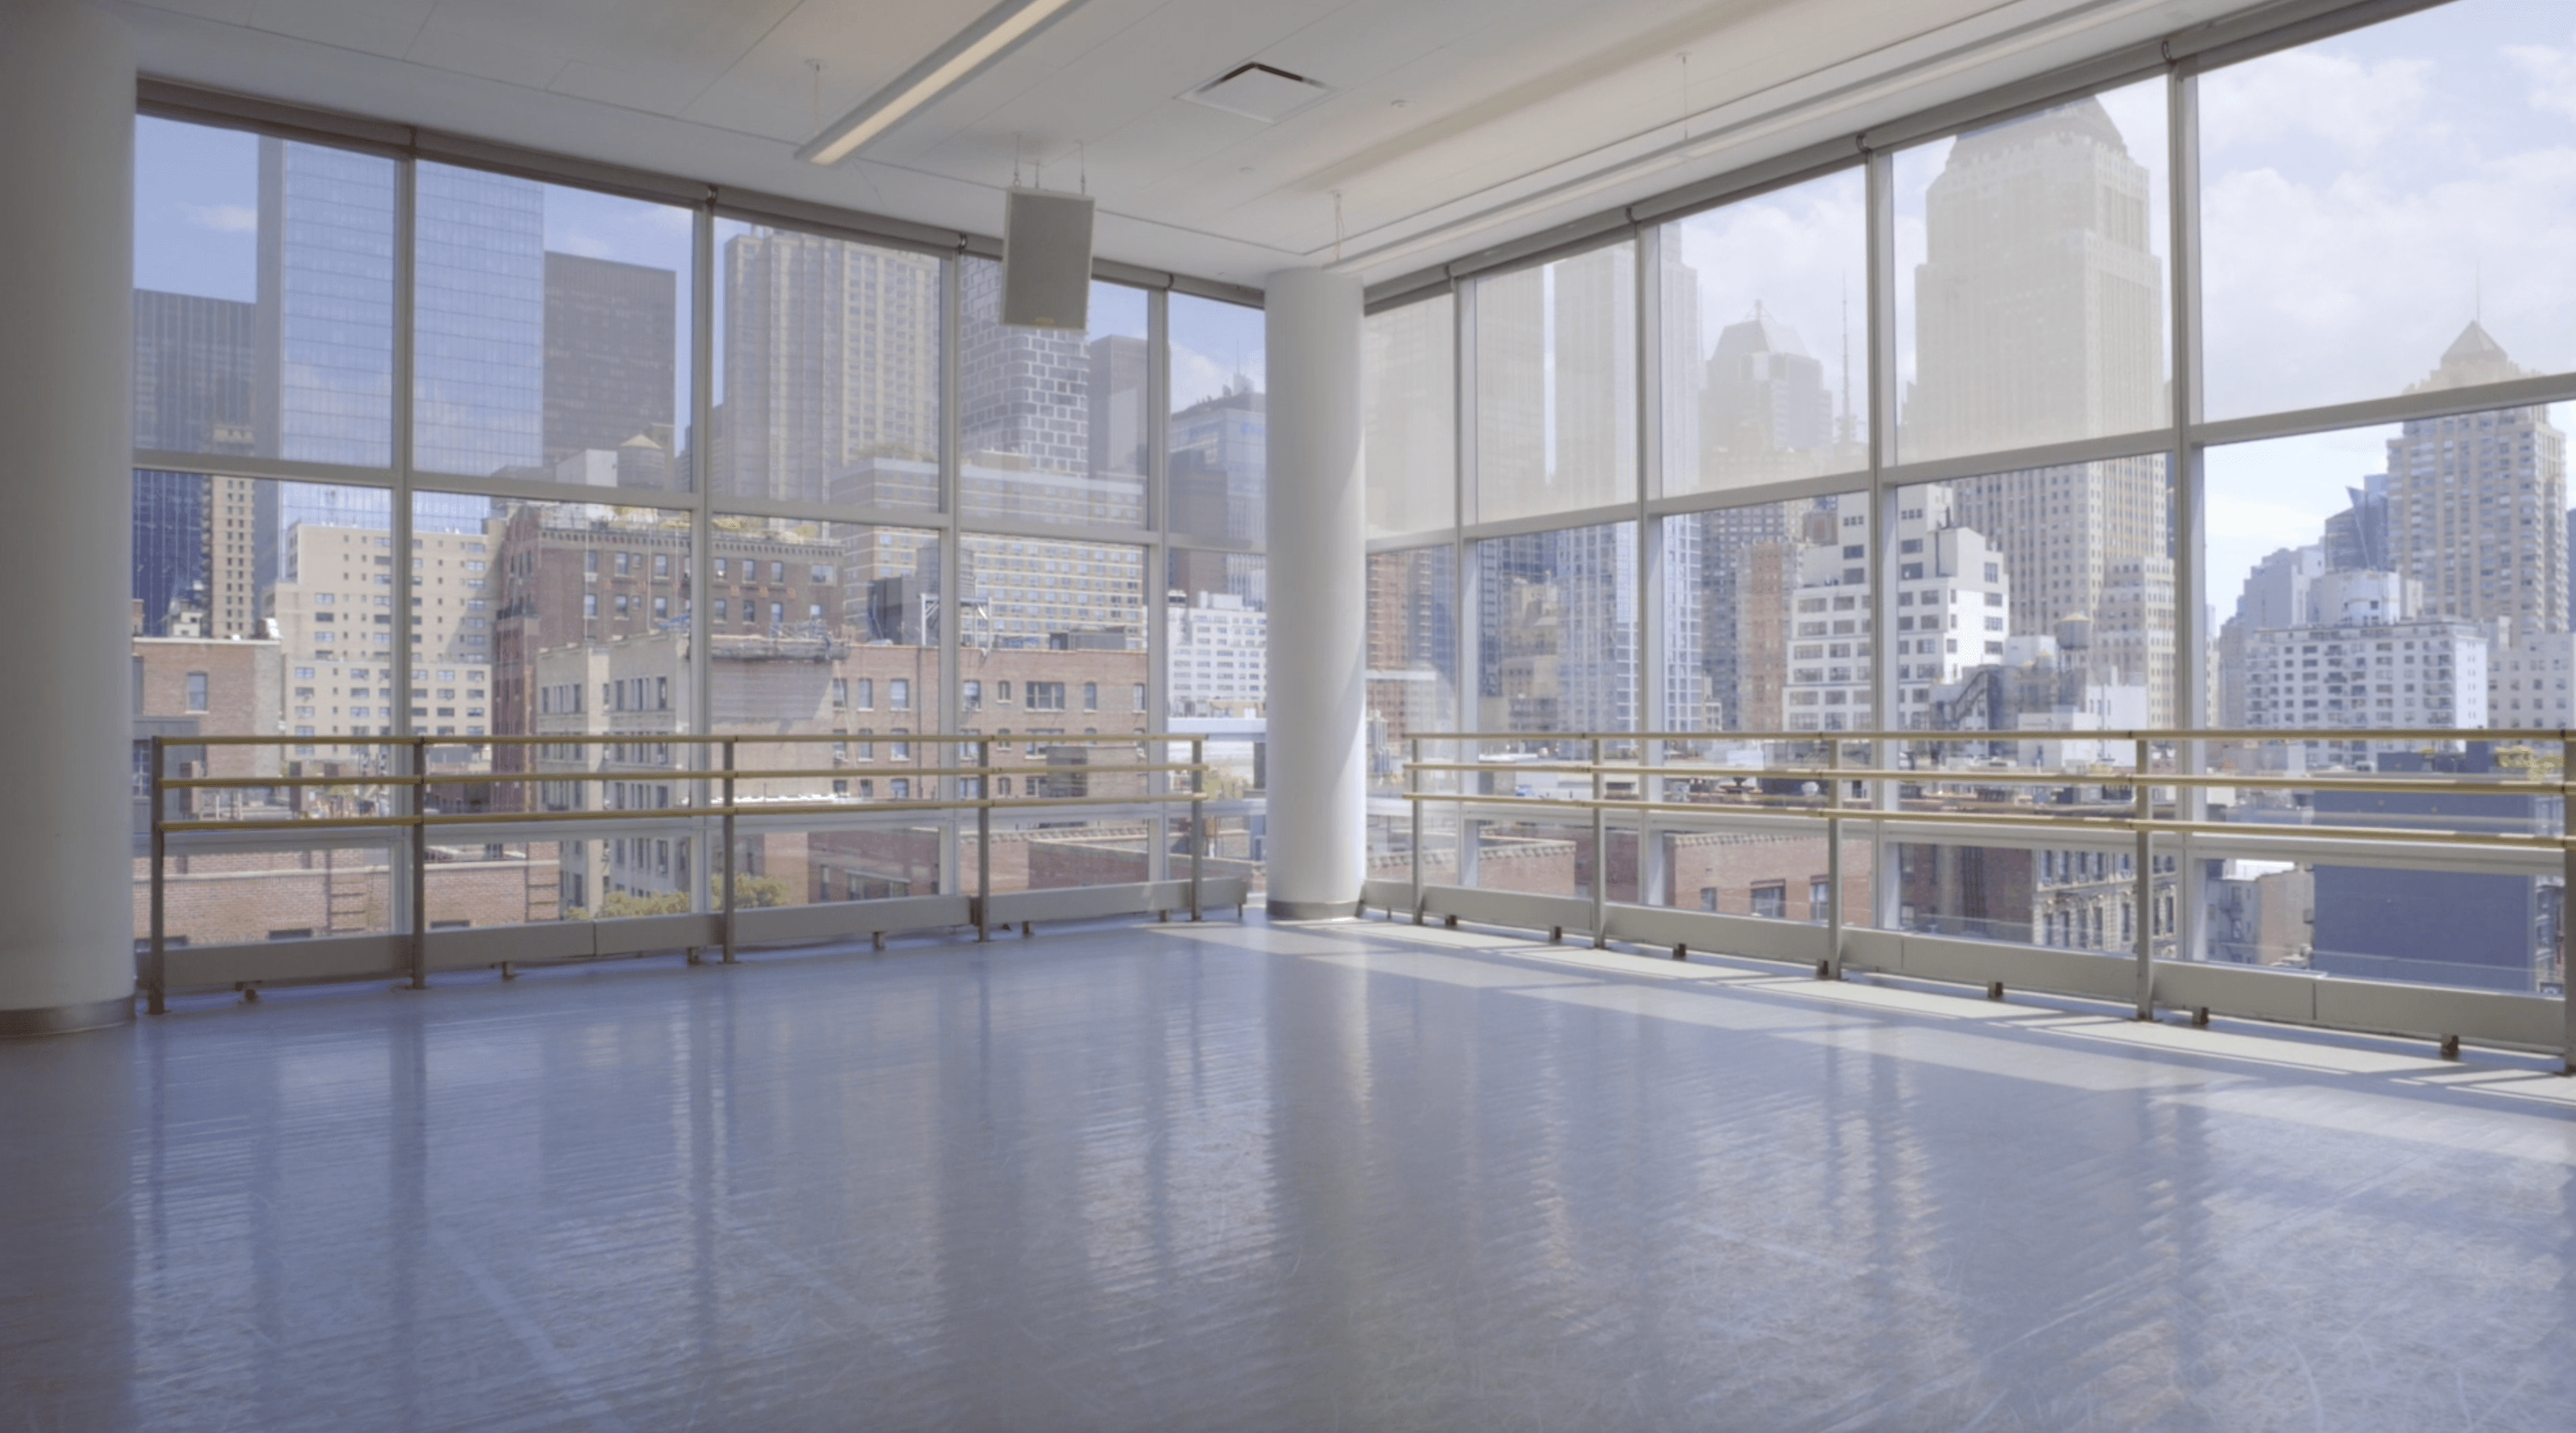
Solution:
M0 1046L0 1428L2550 1428L2537 1062L1409 925Z

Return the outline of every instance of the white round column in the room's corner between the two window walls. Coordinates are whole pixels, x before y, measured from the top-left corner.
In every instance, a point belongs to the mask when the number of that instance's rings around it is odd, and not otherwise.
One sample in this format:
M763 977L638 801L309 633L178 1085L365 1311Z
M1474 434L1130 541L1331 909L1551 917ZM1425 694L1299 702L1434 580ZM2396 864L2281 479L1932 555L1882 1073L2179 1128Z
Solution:
M1270 276L1270 915L1355 915L1368 874L1360 281Z

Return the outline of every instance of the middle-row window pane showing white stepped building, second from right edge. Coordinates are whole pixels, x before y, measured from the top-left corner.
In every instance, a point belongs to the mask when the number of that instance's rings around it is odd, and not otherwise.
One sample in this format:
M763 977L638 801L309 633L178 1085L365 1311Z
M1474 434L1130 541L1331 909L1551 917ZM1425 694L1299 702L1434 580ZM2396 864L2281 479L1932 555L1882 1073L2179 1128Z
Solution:
M1901 487L1896 724L2172 727L2166 466L2159 454Z

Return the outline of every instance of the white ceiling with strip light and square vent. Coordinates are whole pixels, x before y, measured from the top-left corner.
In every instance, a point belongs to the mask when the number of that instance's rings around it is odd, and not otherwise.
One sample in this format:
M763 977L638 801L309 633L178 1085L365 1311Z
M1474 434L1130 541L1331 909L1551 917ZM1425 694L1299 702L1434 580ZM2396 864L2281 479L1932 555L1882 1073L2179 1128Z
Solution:
M1386 278L2257 5L1087 0L860 157L791 157L989 3L100 8L147 75L951 229L999 229L1018 157L1087 183L1103 258L1260 284L1334 263L1337 204ZM1283 124L1180 98L1247 59L1334 93Z

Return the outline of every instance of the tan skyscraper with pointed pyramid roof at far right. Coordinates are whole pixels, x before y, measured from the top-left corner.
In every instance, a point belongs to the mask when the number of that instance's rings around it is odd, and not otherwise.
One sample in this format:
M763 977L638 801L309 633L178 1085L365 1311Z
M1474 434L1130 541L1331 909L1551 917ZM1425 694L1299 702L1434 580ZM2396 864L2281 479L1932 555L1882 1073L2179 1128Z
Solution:
M2476 322L2409 392L2524 371ZM2388 546L2424 593L2421 616L2568 629L2566 433L2543 407L2406 423L2388 441Z

